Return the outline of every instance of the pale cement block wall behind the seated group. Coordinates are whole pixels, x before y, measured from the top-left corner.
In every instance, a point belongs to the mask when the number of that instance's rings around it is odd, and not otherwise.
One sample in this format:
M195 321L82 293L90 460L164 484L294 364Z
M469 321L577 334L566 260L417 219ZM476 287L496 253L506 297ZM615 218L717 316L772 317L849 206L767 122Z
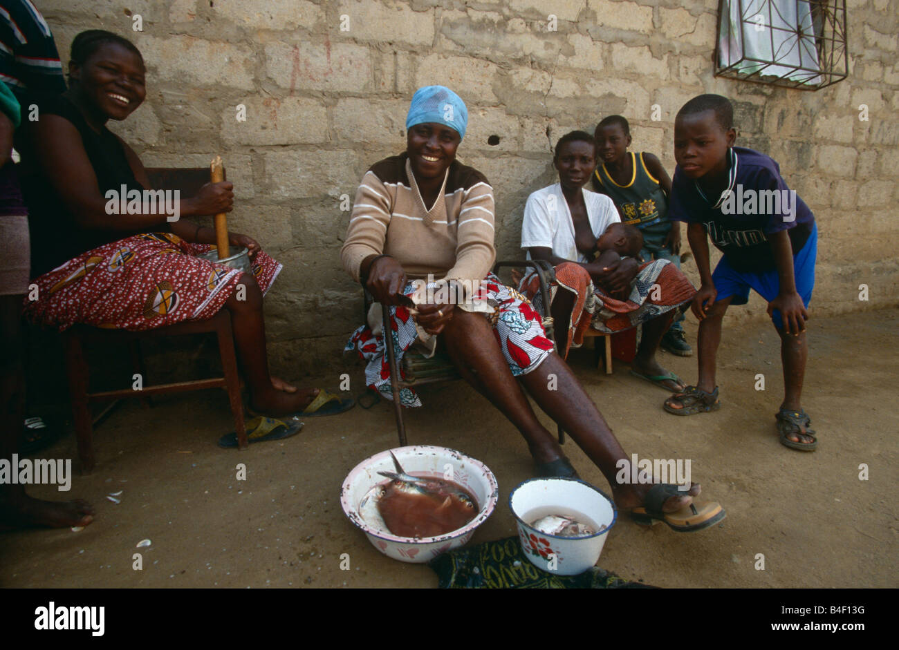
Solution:
M430 83L467 102L458 157L494 185L500 257L519 254L530 192L556 180L559 136L620 113L633 148L659 154L673 173L675 113L717 92L734 101L738 144L774 157L814 210L813 317L899 303L899 0L848 0L849 78L817 92L714 77L717 0L35 4L64 65L85 29L140 48L147 101L111 127L147 166L224 157L236 185L232 228L285 265L266 323L275 370L289 376L337 362L360 323L360 288L338 257L348 221L341 198L352 198L370 164L405 148L408 102ZM132 29L138 15L143 31ZM236 119L241 104L245 121ZM696 280L695 265L685 268ZM732 312L764 318L765 304Z

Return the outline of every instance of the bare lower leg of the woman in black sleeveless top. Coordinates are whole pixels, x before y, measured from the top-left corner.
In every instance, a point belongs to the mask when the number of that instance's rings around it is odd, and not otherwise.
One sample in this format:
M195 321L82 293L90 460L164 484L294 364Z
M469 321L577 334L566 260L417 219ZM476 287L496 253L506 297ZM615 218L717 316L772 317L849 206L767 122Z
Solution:
M245 299L237 300L238 293L235 292L227 299L225 308L231 312L237 359L250 388L250 404L272 416L296 413L315 399L318 389L289 393L275 388L265 351L263 292L253 276L244 274L240 283L246 287L246 291L241 292Z

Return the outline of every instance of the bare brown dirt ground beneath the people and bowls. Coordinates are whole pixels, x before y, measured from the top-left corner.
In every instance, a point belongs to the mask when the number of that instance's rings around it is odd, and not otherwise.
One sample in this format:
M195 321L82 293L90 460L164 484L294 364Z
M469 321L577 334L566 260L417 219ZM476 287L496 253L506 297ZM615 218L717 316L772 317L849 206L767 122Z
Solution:
M892 498L897 476L895 407L899 312L866 312L810 322L804 406L818 432L817 452L778 443L774 413L782 396L779 340L768 323L725 329L718 381L723 408L695 417L662 409L665 393L630 376L592 367L592 350L571 364L625 450L641 457L689 458L703 497L724 505L725 522L698 533L644 529L619 515L600 566L663 587L896 587L899 540ZM696 323L688 319L688 340ZM660 356L688 382L695 358ZM360 391L360 368L351 373ZM756 374L766 390L756 391ZM336 377L304 379L335 390ZM892 397L891 397L892 396ZM512 487L530 478L520 436L461 382L426 387L424 408L409 412L410 444L440 444L484 461L500 501L471 543L514 534ZM451 415L451 417L448 417ZM545 418L547 425L548 418ZM554 429L554 427L551 427ZM396 446L387 402L370 411L309 418L304 431L246 452L219 449L231 430L227 398L202 391L132 400L94 436L97 467L68 493L31 488L45 498L84 497L96 505L84 531L0 534L4 587L432 587L423 565L381 555L343 515L338 493L352 467ZM608 491L599 470L571 442L566 452L583 479ZM76 459L74 435L41 454ZM247 478L236 480L236 463ZM868 480L859 480L859 465ZM77 461L74 463L77 467ZM76 470L77 472L77 470ZM122 491L121 503L106 499ZM140 540L152 540L143 570L132 568ZM350 570L341 570L349 554ZM764 570L756 568L764 555Z

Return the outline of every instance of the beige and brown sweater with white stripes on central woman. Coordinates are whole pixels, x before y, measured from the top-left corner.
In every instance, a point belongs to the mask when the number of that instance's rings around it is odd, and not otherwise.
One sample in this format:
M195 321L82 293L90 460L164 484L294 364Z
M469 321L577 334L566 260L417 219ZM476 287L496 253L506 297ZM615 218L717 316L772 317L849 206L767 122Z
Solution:
M369 255L396 259L410 279L484 279L496 258L494 190L479 171L454 162L442 199L427 210L406 154L372 165L352 206L341 261L357 282Z

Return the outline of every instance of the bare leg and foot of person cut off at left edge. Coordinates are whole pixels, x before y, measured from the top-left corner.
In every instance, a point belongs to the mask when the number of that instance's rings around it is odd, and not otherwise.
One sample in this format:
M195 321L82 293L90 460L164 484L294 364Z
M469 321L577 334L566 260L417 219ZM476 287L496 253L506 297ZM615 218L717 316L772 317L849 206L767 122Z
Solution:
M0 459L10 462L19 448L24 416L22 298L0 295L0 339L4 342L0 357ZM93 522L93 513L93 506L82 499L41 501L26 495L21 484L0 484L0 531L28 526L86 526Z

